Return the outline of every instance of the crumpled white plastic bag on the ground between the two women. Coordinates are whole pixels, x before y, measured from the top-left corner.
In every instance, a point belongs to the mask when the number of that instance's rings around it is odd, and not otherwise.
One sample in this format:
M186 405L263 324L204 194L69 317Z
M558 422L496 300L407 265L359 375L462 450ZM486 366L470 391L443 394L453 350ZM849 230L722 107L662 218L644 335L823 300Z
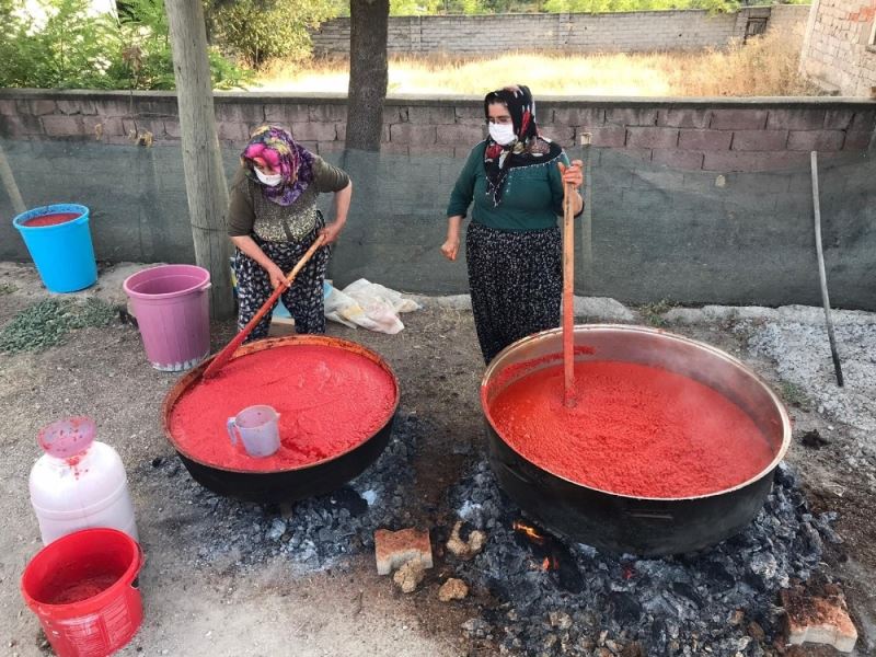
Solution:
M325 298L325 316L347 326L394 335L404 328L400 312L417 310L419 304L400 292L360 278L343 290L332 288Z

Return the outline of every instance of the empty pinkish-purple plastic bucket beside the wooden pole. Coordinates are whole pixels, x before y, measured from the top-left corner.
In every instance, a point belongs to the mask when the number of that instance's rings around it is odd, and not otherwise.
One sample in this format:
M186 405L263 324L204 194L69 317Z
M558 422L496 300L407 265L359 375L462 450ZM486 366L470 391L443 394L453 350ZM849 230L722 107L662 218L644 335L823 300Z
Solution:
M146 357L177 372L210 353L210 273L194 265L160 265L125 279Z

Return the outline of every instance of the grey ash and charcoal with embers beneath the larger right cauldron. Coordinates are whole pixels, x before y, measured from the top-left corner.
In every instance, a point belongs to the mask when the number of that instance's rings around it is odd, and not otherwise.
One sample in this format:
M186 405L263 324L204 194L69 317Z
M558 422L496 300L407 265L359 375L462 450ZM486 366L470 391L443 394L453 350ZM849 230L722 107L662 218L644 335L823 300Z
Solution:
M487 534L483 552L454 563L457 576L499 602L464 630L492 637L508 655L776 654L779 591L827 579L818 572L823 542L840 541L834 517L808 511L785 464L742 533L665 558L602 553L549 534L504 496L485 461L450 502L468 531Z

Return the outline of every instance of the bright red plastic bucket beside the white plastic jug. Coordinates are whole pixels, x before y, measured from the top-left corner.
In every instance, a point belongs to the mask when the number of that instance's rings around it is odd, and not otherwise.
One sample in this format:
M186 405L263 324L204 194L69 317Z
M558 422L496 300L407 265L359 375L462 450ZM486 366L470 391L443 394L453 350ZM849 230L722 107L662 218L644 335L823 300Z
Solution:
M104 657L143 620L134 585L143 565L137 541L116 529L84 529L49 543L31 560L21 592L59 657Z

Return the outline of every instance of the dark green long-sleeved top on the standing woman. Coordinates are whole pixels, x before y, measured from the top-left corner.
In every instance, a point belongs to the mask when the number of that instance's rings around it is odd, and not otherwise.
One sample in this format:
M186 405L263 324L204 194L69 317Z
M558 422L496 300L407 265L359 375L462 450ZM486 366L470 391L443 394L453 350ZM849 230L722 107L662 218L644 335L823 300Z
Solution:
M472 221L489 228L519 231L555 227L557 216L563 214L563 178L556 164L568 166L566 153L561 151L551 160L509 170L502 203L495 207L486 193L485 150L486 141L482 141L469 153L450 194L447 216L464 217L474 201Z

